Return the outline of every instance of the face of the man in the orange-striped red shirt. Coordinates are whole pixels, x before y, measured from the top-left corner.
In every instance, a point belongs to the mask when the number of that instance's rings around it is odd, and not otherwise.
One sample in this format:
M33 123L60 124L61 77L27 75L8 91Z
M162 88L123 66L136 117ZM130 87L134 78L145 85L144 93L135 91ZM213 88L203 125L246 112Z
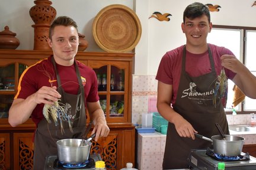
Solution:
M57 25L53 29L52 40L48 39L57 64L71 66L78 51L78 31L73 26Z

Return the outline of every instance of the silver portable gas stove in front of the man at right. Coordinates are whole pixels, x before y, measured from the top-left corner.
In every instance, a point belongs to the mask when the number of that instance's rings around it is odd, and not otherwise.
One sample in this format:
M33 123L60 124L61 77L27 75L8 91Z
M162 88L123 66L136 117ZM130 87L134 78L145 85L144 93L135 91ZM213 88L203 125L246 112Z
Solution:
M255 170L256 158L249 156L249 153L241 153L238 156L216 155L212 149L191 150L188 158L190 169L193 170L217 170L219 162L225 162L225 170Z

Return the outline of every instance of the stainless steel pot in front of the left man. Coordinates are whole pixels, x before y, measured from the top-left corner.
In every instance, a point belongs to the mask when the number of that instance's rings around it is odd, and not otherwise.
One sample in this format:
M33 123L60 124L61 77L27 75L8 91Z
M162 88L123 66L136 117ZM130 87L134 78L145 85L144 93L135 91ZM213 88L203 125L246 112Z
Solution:
M81 164L89 158L91 142L79 146L82 139L62 139L58 140L57 153L59 161L66 164Z

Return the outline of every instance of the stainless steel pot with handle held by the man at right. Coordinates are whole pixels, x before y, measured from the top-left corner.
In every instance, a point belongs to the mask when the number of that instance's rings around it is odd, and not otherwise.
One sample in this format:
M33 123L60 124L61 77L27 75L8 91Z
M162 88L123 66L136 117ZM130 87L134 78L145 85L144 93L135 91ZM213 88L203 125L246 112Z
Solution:
M238 156L242 152L244 144L244 138L240 136L225 135L225 138L221 135L212 136L212 139L195 133L195 136L200 139L208 140L213 143L213 151L218 155L225 156Z

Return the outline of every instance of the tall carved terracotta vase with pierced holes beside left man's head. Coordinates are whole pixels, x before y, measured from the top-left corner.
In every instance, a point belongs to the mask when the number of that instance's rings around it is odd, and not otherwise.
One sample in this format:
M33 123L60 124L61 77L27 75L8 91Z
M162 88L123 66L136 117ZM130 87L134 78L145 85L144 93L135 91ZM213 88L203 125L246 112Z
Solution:
M49 28L56 17L56 9L48 0L36 0L30 8L30 17L34 21L34 50L52 50L47 42Z

